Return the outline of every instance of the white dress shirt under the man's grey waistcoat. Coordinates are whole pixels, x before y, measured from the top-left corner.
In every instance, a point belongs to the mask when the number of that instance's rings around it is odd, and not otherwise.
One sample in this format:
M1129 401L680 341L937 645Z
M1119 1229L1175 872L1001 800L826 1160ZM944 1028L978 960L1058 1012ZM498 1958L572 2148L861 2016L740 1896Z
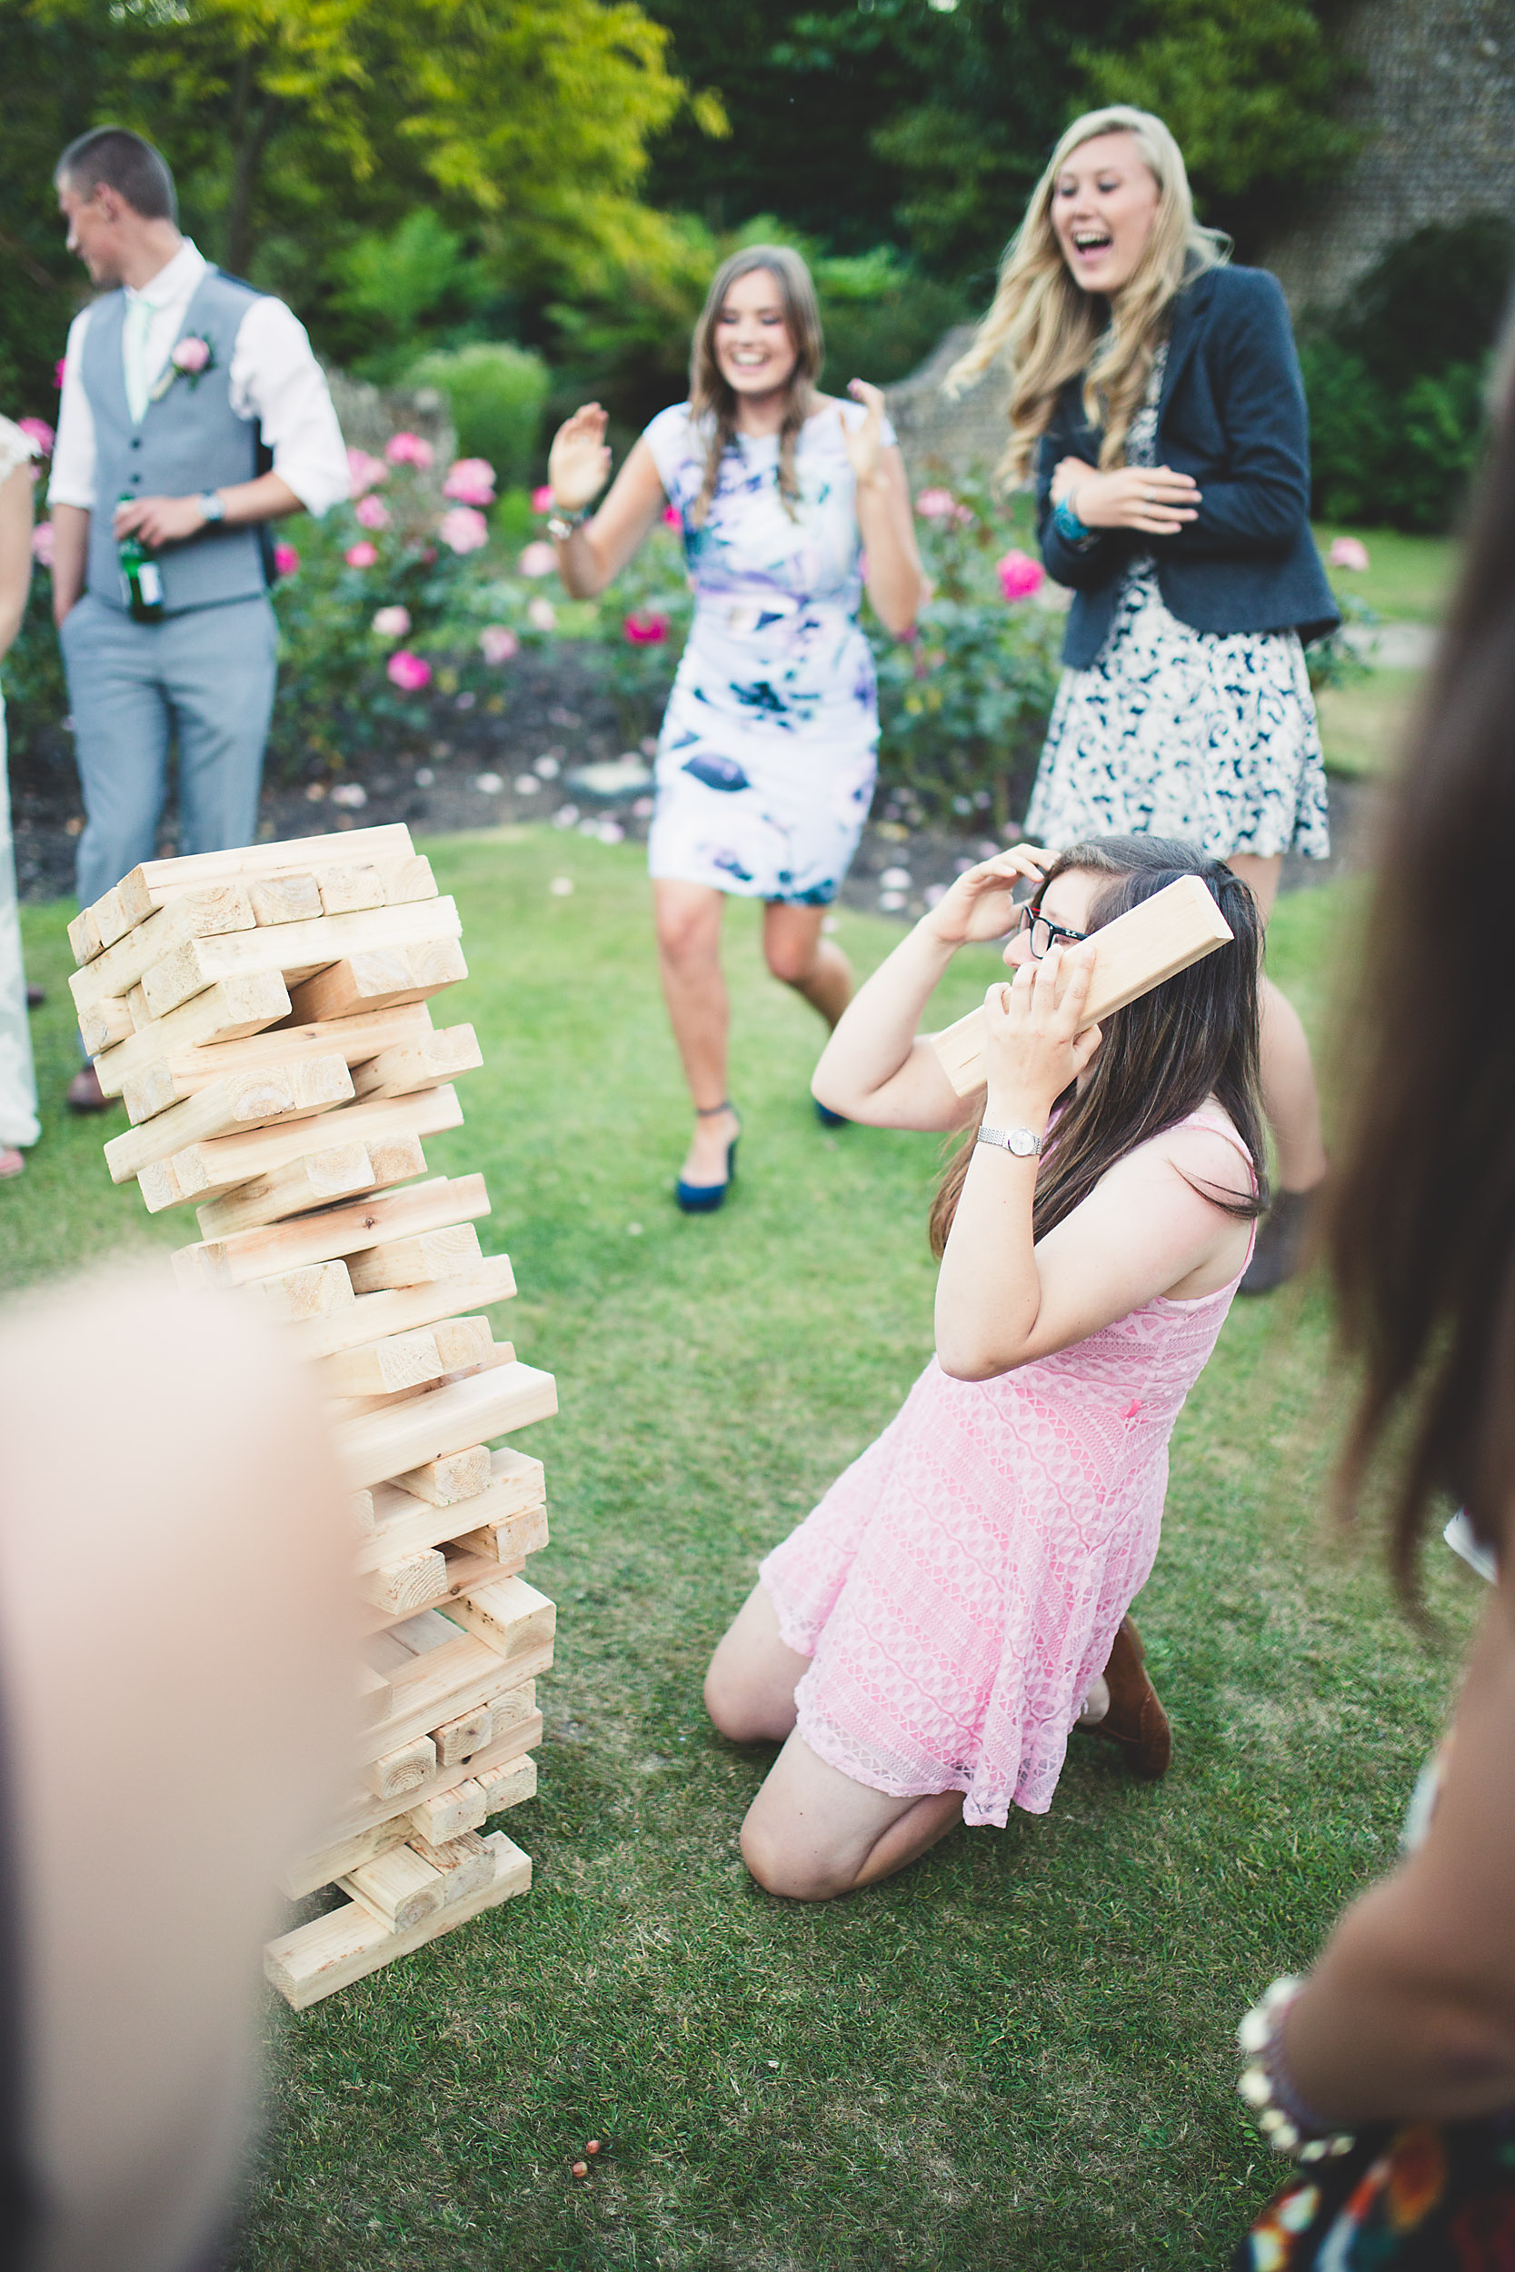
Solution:
M127 404L141 420L148 391L168 364L184 314L209 261L184 239L175 257L143 286L125 286L127 320L120 364ZM68 327L57 443L48 479L50 504L95 509L95 420L79 377L79 350L93 309ZM273 470L288 482L307 513L325 513L348 495L348 450L343 445L325 373L311 352L304 325L282 300L250 300L232 348L232 411L257 418L273 450Z

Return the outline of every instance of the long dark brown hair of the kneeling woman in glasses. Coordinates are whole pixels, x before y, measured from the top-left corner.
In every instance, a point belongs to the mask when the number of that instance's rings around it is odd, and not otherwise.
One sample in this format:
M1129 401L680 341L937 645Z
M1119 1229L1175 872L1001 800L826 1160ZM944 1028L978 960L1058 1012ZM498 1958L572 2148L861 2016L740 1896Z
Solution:
M1215 1097L1256 1163L1256 1195L1204 1191L1229 1216L1258 1216L1267 1204L1263 1177L1263 1111L1258 1102L1258 977L1263 932L1252 893L1224 861L1204 859L1170 836L1095 836L1058 852L1036 893L1077 868L1108 882L1095 895L1090 932L1124 916L1181 875L1197 875L1231 925L1233 945L1163 979L1152 993L1102 1020L1104 1041L1083 1088L1063 1100L1052 1143L1036 1177L1033 1229L1045 1238L1070 1216L1118 1159L1170 1129ZM977 1118L977 1116L974 1116ZM931 1252L940 1259L968 1177L974 1129L947 1163L931 1204Z

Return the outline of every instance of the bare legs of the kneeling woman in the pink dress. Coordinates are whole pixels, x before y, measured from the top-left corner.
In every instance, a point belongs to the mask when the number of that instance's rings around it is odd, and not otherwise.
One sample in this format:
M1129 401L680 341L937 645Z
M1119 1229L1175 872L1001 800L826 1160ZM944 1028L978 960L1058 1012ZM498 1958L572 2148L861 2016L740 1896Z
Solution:
M743 1861L759 1886L795 1902L831 1902L918 1861L963 1820L963 1793L890 1799L827 1768L795 1734L795 1688L809 1656L779 1636L754 1586L704 1677L704 1706L734 1743L781 1743L743 1822Z

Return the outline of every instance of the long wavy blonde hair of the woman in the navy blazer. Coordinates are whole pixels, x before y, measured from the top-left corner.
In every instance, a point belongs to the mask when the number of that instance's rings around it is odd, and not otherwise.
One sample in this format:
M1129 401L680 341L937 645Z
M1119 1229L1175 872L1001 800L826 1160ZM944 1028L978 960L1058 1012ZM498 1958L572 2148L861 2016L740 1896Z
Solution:
M1052 198L1063 166L1099 134L1129 134L1158 186L1152 234L1131 282L1111 300L1104 336L1099 295L1083 291L1068 273L1052 227ZM1229 252L1231 243L1220 229L1195 220L1183 152L1161 118L1131 109L1129 102L1111 102L1074 118L1006 248L988 316L972 348L947 373L947 391L956 395L1002 350L1008 352L1011 445L999 461L999 479L1015 484L1027 477L1056 398L1079 373L1083 416L1104 429L1099 463L1120 466L1174 293L1199 270L1217 268Z

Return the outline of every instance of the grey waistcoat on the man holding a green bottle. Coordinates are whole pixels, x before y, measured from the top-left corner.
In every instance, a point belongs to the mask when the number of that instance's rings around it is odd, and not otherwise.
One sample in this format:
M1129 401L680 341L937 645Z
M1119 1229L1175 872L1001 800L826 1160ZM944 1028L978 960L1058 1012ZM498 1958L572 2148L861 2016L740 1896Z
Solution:
M111 516L120 498L198 498L204 488L227 488L259 473L259 429L232 411L232 348L236 332L259 298L218 268L207 268L184 311L179 339L207 339L214 368L191 386L175 377L143 423L132 425L127 382L120 368L120 334L127 320L125 291L107 293L91 309L79 357L79 377L95 420L95 509L89 516L89 591L107 607L125 611L116 563ZM193 607L250 600L268 588L263 541L252 529L207 529L189 543L159 552L164 600L170 616Z

